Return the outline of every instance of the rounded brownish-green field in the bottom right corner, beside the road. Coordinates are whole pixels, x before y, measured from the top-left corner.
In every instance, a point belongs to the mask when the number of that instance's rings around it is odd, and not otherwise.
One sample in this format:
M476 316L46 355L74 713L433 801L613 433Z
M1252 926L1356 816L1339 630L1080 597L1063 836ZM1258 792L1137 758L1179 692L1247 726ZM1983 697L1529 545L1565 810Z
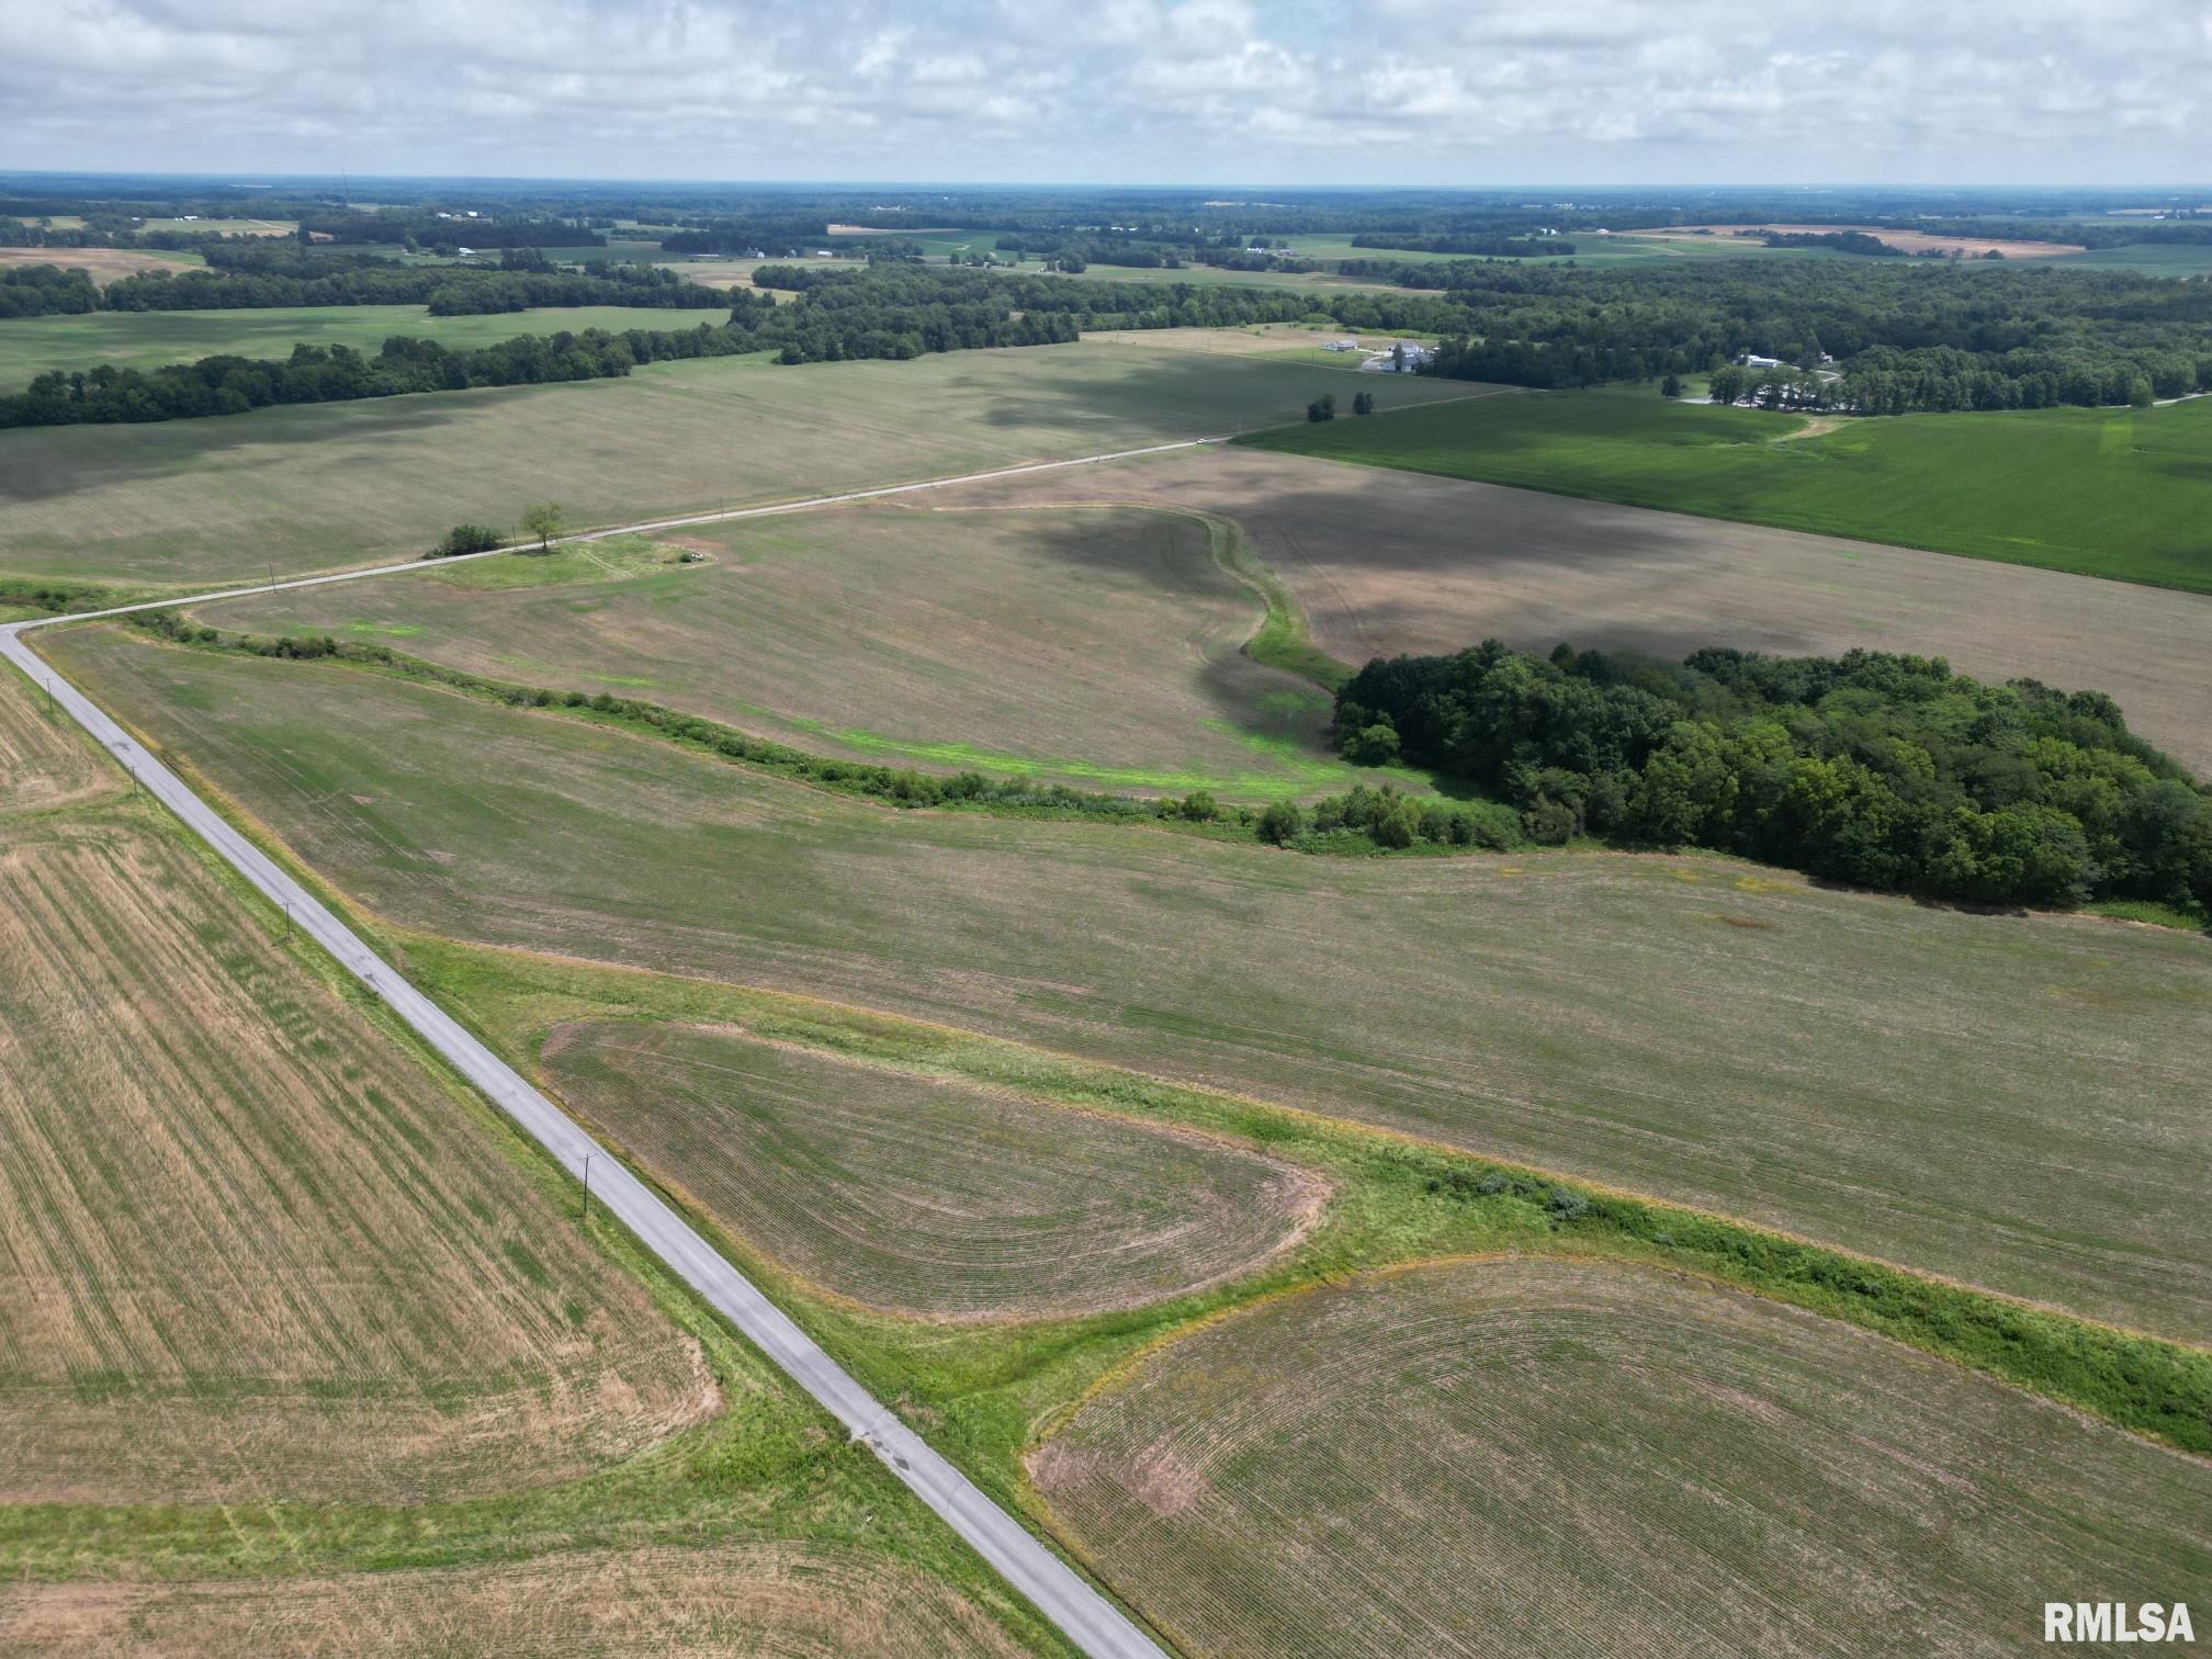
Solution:
M1186 1650L2000 1652L2212 1597L2212 1469L1644 1270L1475 1261L1265 1303L1031 1455Z

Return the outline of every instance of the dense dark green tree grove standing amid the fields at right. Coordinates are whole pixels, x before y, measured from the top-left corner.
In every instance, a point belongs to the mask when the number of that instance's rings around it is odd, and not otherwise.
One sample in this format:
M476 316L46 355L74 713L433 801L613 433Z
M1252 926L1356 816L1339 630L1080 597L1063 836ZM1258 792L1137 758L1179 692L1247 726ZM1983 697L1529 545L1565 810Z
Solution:
M1498 792L1535 841L1719 847L1969 902L2212 909L2212 796L2110 697L1984 686L1940 657L1661 664L1491 639L1367 664L1336 726L1349 759ZM1409 845L1416 814L1405 803L1376 836Z

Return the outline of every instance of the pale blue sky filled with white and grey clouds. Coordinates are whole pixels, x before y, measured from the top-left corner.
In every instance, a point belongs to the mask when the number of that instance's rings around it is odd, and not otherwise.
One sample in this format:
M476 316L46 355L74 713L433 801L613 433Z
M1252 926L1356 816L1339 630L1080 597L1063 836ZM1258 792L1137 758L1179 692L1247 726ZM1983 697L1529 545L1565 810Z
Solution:
M2212 179L2212 0L0 0L0 168Z

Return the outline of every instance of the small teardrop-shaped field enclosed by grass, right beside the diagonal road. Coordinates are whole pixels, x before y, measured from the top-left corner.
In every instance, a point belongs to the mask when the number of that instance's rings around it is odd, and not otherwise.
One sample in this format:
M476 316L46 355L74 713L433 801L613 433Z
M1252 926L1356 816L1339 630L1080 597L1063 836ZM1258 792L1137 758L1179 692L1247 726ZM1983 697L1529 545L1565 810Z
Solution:
M1325 1197L1234 1148L730 1029L562 1026L542 1062L661 1186L885 1312L1133 1307L1254 1267Z

